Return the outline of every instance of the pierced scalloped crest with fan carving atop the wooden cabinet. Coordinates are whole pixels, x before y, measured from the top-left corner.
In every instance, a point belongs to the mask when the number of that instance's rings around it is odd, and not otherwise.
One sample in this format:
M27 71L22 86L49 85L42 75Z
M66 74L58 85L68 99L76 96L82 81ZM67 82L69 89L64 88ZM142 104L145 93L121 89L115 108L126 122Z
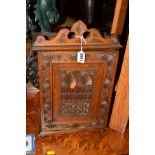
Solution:
M85 38L86 45L119 45L118 39L115 36L112 35L109 39L105 39L97 29L87 29L86 24L79 20L72 26L71 30L61 29L57 36L51 40L46 40L44 36L38 36L34 46L80 45L81 36Z

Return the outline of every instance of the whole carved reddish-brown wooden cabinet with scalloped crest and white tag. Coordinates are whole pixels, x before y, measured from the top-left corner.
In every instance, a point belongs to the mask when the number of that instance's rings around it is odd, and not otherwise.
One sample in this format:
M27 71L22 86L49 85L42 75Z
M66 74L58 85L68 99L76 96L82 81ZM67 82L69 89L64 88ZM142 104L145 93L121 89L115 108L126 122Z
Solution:
M77 62L83 44L85 62ZM106 128L119 48L116 36L103 38L82 21L53 39L38 36L41 135Z

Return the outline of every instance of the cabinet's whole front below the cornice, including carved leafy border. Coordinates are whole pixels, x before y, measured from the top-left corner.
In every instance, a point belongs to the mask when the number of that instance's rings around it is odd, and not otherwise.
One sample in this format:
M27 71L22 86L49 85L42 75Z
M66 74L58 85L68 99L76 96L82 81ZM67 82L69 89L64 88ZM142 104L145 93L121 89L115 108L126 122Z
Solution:
M76 54L39 53L41 127L45 133L106 126L117 55L86 52L81 64Z

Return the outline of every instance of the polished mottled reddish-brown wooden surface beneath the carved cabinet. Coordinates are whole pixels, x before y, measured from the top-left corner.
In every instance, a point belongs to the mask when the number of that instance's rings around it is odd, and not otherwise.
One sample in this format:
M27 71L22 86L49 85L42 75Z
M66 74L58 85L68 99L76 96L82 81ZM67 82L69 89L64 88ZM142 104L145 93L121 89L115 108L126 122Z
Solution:
M39 94L27 85L26 133L34 133L36 153L46 155L53 150L56 155L128 155L129 132L122 135L111 129L105 132L82 131L75 133L55 134L41 138L38 135Z

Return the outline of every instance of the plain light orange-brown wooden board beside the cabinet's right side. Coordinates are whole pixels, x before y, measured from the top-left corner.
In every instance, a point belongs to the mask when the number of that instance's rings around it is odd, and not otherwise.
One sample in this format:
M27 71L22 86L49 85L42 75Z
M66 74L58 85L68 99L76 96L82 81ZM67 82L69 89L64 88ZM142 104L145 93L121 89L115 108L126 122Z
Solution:
M110 120L110 128L124 133L129 118L129 42L126 45L121 74Z

